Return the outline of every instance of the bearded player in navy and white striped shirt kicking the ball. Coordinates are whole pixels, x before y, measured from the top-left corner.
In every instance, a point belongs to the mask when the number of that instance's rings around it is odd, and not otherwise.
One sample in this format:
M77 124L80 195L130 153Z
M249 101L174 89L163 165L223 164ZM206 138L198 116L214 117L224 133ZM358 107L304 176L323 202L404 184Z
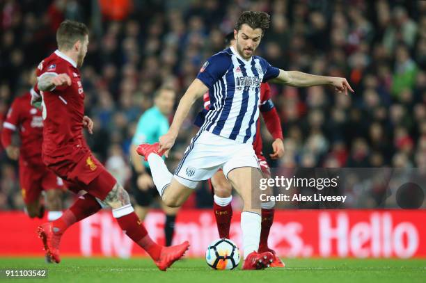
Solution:
M219 168L223 170L244 200L243 269L266 268L273 257L271 252L258 253L262 175L252 143L259 115L260 83L269 81L296 87L329 85L346 95L348 89L353 91L345 78L284 71L255 56L269 22L267 13L242 13L235 25L235 43L210 57L201 67L180 99L168 133L159 138L159 143L143 144L137 149L150 163L155 186L169 207L182 205L199 181L209 179ZM210 109L198 115L197 124L202 127L172 175L161 155L167 155L173 147L192 104L207 91Z

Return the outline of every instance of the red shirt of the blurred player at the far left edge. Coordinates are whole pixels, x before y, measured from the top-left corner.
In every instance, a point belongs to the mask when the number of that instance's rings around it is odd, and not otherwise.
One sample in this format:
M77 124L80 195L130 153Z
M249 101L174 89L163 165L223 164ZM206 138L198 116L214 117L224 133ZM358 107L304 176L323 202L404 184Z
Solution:
M18 131L21 139L19 158L29 163L41 163L42 113L31 106L30 92L15 98L9 108L1 133L4 147L10 145L10 137L13 131Z

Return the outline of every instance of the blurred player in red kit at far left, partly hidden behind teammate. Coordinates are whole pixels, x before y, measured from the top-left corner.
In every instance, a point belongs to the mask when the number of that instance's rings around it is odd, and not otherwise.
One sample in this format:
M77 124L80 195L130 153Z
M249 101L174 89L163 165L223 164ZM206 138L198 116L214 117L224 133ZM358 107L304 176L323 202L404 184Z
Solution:
M35 74L29 76L33 85ZM26 213L30 218L42 218L46 206L47 220L52 221L62 215L63 181L42 162L42 114L30 104L31 95L37 95L37 92L36 86L15 98L3 122L1 143L10 159L19 159L19 184ZM15 131L19 134L20 147L12 143ZM45 204L40 202L42 191L46 194Z

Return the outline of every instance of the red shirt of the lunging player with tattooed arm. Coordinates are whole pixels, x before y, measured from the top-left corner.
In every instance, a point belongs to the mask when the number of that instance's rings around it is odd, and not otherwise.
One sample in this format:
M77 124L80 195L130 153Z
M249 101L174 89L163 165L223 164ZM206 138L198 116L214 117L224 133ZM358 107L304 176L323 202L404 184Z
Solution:
M70 76L71 86L65 84L50 91L40 91L44 124L42 154L50 158L66 156L77 148L86 147L82 133L84 90L77 63L56 50L37 68L38 78L63 73Z

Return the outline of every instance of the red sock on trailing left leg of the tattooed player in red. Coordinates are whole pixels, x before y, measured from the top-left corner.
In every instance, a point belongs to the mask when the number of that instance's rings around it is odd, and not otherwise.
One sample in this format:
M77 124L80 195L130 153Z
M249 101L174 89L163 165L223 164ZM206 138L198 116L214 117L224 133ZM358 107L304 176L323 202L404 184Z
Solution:
M52 222L54 232L63 233L68 227L84 218L97 213L102 207L93 195L81 195L62 216Z

